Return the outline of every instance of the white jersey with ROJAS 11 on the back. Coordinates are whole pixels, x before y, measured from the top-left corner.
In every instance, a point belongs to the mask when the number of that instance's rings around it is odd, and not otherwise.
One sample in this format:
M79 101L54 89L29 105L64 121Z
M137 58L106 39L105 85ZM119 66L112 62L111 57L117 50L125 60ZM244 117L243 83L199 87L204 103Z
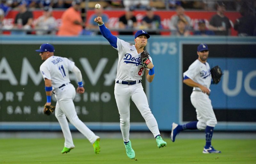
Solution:
M40 66L40 72L43 78L52 81L53 88L58 88L62 84L70 82L68 71L71 71L74 66L75 63L68 58L51 56Z

